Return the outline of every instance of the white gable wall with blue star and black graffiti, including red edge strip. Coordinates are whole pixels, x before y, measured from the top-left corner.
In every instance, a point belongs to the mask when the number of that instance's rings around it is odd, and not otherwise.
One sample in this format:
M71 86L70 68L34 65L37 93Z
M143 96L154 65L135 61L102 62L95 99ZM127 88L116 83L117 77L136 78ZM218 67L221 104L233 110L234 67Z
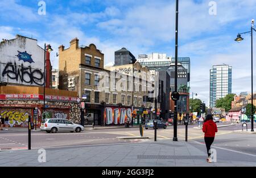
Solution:
M46 87L51 86L51 62L46 52ZM16 35L0 43L0 82L44 86L44 49L38 40Z

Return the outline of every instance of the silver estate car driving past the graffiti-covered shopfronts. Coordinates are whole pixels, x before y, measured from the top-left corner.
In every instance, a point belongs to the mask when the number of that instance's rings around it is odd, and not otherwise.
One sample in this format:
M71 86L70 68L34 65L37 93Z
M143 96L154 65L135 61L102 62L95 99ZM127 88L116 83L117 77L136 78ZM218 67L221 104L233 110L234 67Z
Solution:
M47 133L56 132L81 132L84 131L84 126L75 124L69 120L61 118L46 118L42 120L40 130Z

